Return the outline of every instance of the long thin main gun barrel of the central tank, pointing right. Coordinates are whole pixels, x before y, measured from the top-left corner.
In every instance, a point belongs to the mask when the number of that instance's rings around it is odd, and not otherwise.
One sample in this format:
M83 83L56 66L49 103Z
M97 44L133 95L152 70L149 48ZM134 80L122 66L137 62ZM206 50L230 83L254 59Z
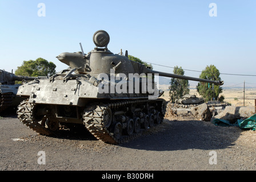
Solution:
M159 76L165 76L165 77L171 77L171 78L208 82L208 83L215 84L215 85L223 85L224 84L223 81L206 80L206 79L202 79L202 78L195 78L195 77L184 76L184 75L175 75L175 74L171 74L171 73L158 72L158 71L154 71L154 70L150 70L150 73L159 74Z

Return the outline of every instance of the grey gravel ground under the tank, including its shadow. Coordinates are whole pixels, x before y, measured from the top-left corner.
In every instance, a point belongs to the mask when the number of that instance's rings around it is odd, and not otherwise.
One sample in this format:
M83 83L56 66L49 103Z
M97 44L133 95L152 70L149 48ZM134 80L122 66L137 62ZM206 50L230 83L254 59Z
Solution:
M0 118L2 171L255 170L256 133L194 118L165 118L129 143L96 140L83 127L58 138L36 134L15 114ZM40 160L45 154L45 160ZM39 153L38 153L39 152ZM45 164L43 164L45 161Z

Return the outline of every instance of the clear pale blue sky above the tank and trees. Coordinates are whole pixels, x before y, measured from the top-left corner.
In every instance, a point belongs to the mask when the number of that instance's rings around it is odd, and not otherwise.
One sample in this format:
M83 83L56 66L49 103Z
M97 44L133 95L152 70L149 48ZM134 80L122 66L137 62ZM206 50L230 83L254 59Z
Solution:
M0 26L0 69L9 72L38 57L66 69L56 56L81 51L79 43L90 52L94 32L105 30L111 52L127 50L154 70L199 77L213 64L223 86L256 88L255 0L0 0Z

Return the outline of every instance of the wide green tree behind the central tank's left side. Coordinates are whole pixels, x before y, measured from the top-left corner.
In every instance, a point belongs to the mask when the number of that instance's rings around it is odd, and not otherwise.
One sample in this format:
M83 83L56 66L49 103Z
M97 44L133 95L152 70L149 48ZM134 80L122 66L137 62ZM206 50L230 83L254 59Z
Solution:
M47 60L39 57L38 59L23 61L21 67L15 71L15 75L21 76L53 76L56 65L52 62L48 62Z

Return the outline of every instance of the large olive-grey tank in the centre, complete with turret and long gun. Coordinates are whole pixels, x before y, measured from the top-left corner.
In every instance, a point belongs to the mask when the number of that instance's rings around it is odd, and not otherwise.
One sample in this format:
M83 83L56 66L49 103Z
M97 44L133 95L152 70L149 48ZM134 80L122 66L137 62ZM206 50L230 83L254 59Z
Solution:
M20 121L42 135L57 134L59 125L84 125L98 140L123 143L163 121L165 101L154 76L211 82L222 81L153 71L125 55L110 52L110 36L99 30L95 48L85 54L63 52L57 56L69 68L49 79L23 84L18 95L27 98L18 106Z

